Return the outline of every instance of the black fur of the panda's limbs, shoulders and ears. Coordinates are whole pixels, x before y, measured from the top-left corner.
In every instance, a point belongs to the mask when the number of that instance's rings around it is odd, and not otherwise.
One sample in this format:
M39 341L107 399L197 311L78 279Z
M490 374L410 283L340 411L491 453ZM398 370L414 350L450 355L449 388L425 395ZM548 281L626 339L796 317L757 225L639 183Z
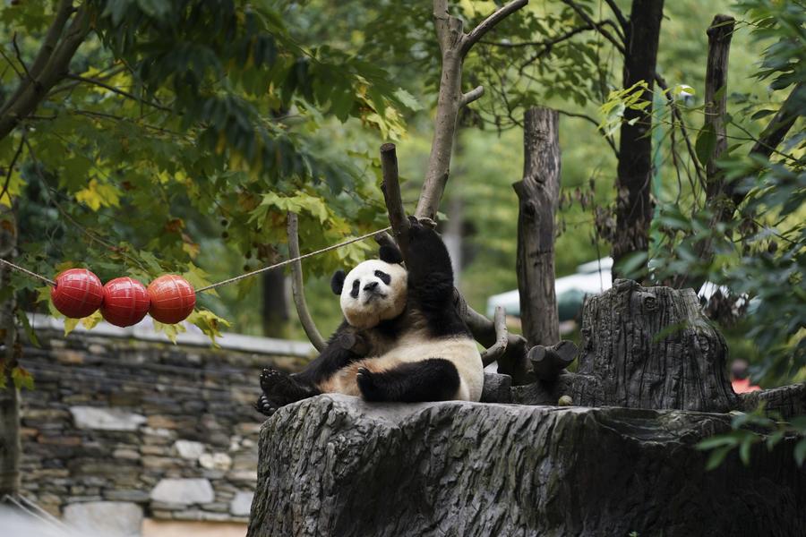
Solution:
M356 360L380 356L390 350L416 320L425 321L428 337L472 337L454 308L453 269L448 249L432 228L423 226L415 217L409 217L409 222L406 311L396 319L384 320L366 330L356 329L343 321L322 354L304 371L289 375L265 370L261 376L263 396L255 405L259 411L270 415L280 406L318 395L321 391L317 387L322 381ZM390 245L381 247L380 257L387 263L403 260L400 251ZM342 270L333 275L330 281L333 293L341 294L345 277ZM357 354L339 345L339 337L346 332L364 339L368 344L364 353ZM440 401L456 393L459 372L447 360L431 358L383 373L364 373L358 382L367 400Z

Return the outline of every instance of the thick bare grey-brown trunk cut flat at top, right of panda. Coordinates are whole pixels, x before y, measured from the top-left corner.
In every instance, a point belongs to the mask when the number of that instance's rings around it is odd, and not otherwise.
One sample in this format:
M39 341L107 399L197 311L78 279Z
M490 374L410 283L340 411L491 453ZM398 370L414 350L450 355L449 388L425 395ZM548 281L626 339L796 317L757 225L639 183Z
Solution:
M518 194L518 289L529 346L560 341L554 294L554 215L560 196L559 114L544 107L524 115L523 180Z

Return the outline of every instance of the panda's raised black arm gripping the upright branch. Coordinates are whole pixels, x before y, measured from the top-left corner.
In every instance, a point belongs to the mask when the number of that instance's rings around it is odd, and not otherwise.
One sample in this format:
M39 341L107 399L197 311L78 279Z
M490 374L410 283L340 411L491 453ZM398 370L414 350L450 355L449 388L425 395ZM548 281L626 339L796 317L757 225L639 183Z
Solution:
M453 298L453 268L440 235L409 217L408 293L419 303L442 306Z

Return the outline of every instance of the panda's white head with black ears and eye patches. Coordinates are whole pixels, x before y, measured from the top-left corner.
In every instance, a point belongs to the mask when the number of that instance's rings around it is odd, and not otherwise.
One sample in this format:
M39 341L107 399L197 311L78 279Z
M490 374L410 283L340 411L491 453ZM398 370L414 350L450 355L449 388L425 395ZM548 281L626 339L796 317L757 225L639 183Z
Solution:
M360 263L345 276L339 270L330 280L333 293L341 295L341 311L356 328L373 328L406 309L407 274L397 248L381 247L380 260Z

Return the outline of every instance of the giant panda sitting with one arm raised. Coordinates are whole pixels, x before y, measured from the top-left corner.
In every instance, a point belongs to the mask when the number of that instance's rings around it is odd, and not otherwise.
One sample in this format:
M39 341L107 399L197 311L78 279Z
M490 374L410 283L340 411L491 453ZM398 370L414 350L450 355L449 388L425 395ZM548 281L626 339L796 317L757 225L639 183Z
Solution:
M407 268L396 247L382 246L330 286L339 294L344 321L304 371L265 369L255 407L271 415L279 407L322 393L366 401L478 401L484 366L476 341L453 304L453 270L440 236L409 217ZM362 337L368 352L339 345Z

